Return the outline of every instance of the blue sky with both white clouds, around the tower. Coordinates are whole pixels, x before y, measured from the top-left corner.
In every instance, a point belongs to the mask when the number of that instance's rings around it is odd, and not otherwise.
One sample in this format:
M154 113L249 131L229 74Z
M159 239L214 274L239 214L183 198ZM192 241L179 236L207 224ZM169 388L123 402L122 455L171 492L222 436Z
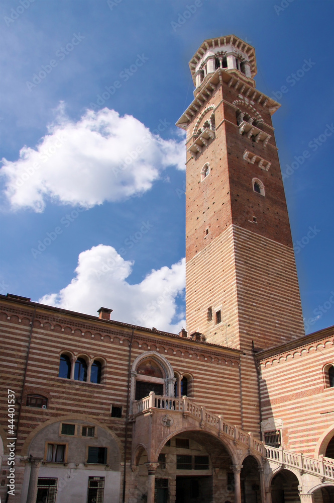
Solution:
M282 104L273 123L306 332L332 325L333 2L193 5L3 0L1 293L179 329L185 149L174 124L192 99L190 57L235 33L255 47L257 88Z

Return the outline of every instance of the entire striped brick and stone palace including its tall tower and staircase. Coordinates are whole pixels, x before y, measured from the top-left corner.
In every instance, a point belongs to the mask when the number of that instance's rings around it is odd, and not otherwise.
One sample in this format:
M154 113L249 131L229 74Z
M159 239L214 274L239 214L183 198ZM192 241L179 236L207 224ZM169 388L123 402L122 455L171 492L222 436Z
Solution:
M279 104L234 35L189 66L187 329L1 295L2 501L334 501L334 327L304 334Z

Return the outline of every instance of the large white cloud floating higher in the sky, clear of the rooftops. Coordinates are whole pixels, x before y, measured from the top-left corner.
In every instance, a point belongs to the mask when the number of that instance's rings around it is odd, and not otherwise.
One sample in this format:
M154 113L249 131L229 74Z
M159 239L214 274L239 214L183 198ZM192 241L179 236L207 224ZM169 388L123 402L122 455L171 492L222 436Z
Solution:
M168 127L161 120L159 131ZM92 207L149 190L166 166L184 169L184 140L164 140L131 115L88 110L78 122L63 114L36 148L16 161L3 159L1 174L13 209L41 212L48 198Z

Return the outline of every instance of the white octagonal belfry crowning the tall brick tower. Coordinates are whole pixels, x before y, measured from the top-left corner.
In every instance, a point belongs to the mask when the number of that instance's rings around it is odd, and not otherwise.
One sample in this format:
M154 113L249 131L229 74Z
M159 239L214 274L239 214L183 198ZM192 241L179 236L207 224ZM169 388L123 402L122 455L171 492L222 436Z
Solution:
M204 40L189 61L189 68L195 86L194 96L202 88L202 83L208 80L208 75L223 68L238 78L255 87L253 80L256 75L256 60L254 47L235 35L210 38Z

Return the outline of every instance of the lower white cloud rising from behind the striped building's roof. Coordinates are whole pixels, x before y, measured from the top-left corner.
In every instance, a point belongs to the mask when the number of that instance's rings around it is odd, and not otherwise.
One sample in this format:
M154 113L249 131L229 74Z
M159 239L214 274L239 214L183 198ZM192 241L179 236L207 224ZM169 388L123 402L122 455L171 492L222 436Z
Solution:
M94 316L99 307L107 307L114 310L112 319L179 332L185 320L176 297L184 293L185 259L171 268L152 270L136 285L126 281L132 265L112 246L93 246L80 253L71 283L39 302Z

